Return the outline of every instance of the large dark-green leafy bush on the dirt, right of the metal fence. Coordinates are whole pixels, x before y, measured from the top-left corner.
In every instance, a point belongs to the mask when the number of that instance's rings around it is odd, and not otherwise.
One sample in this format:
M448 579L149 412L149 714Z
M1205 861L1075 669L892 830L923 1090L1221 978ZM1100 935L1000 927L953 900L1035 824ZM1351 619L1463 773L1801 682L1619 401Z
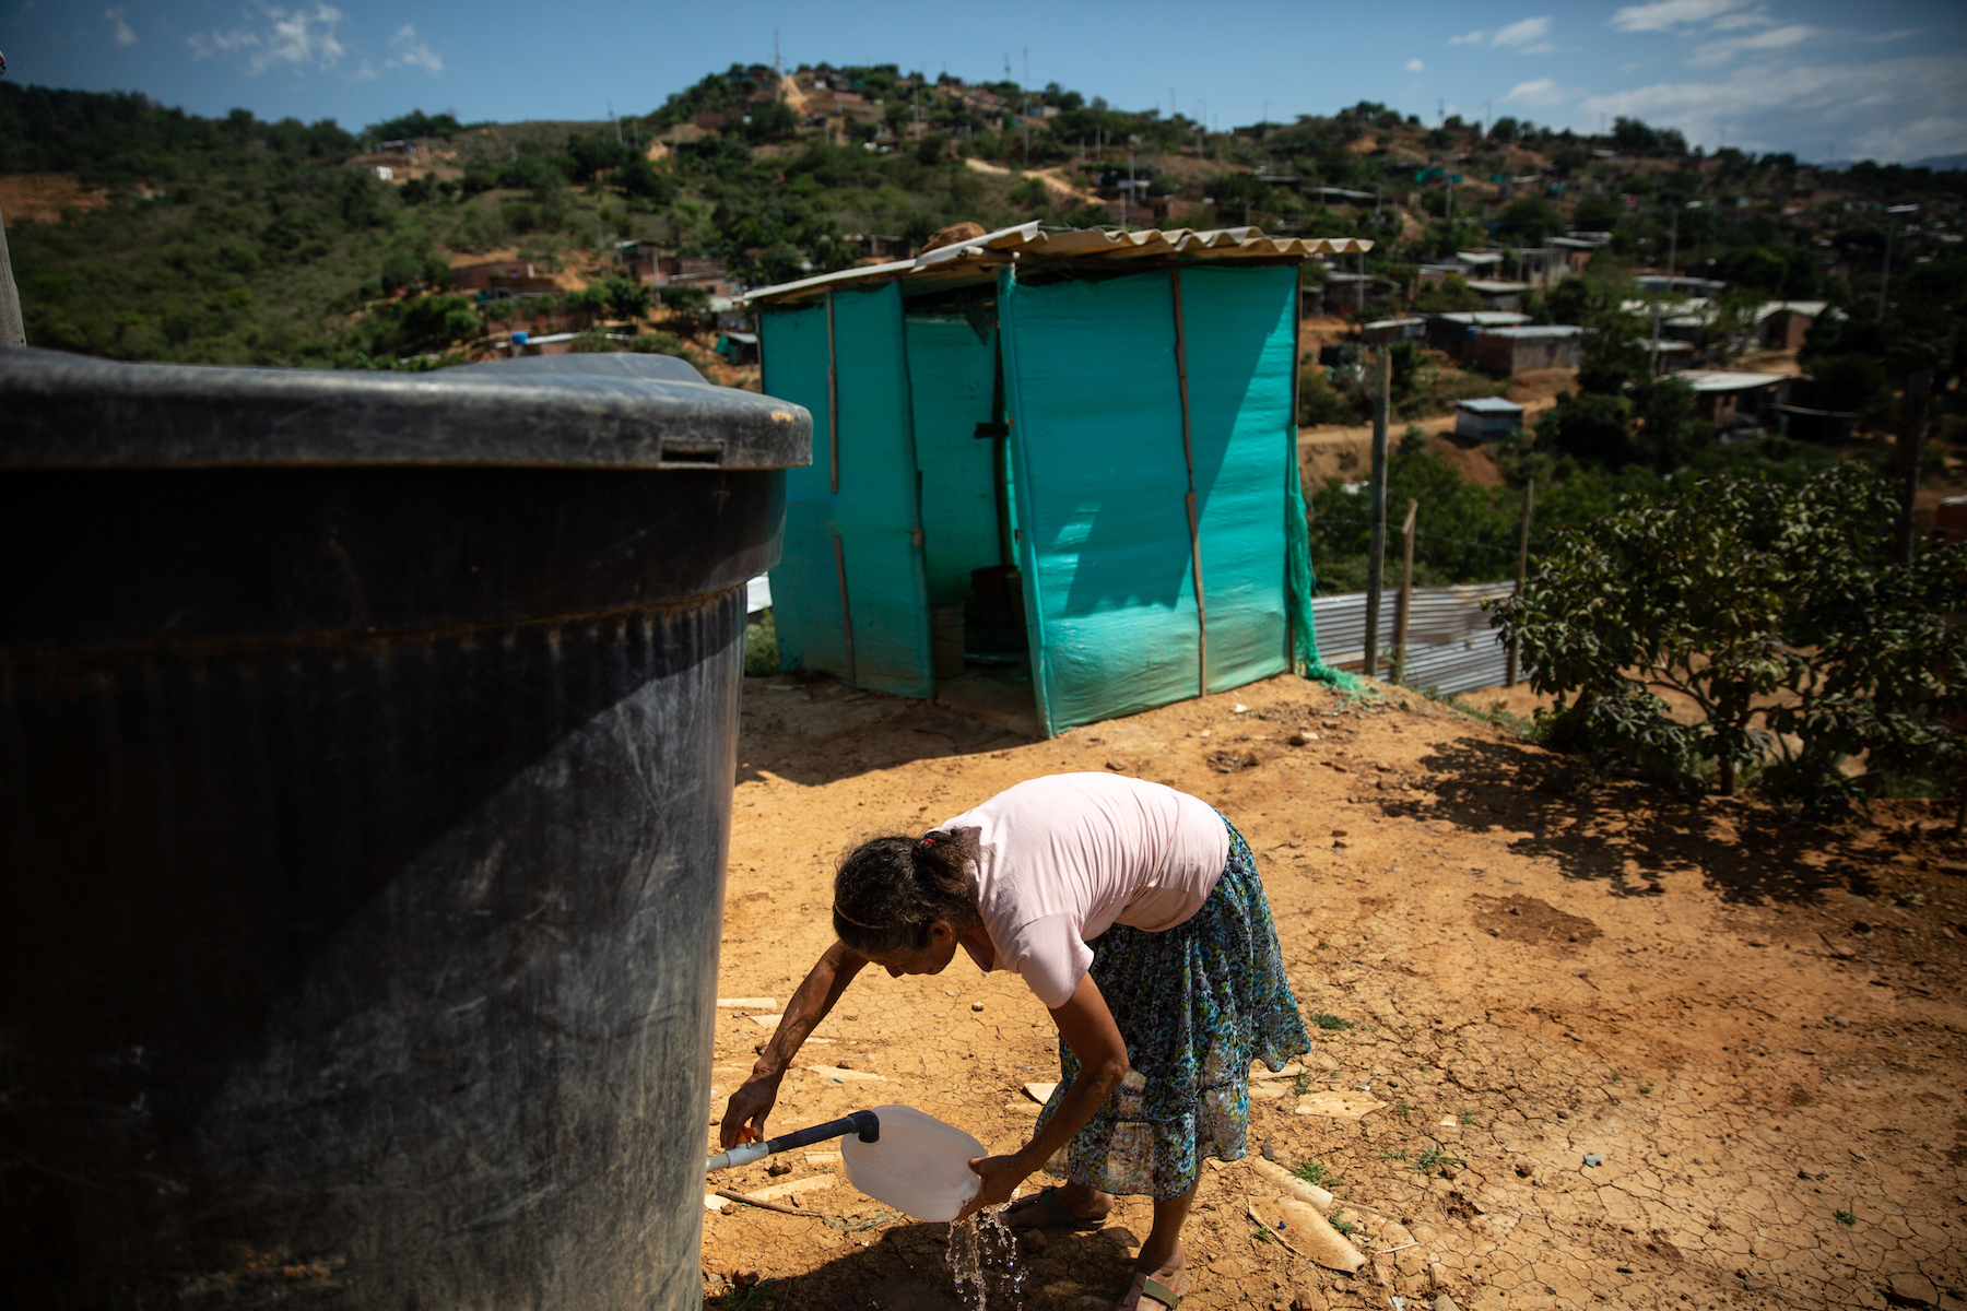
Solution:
M1709 478L1627 499L1556 535L1497 603L1530 686L1556 694L1546 741L1723 794L1766 765L1776 796L1847 806L1894 778L1957 786L1967 715L1967 548L1894 562L1898 507L1859 464L1802 485ZM1698 710L1668 713L1660 692ZM1867 772L1845 761L1869 755Z

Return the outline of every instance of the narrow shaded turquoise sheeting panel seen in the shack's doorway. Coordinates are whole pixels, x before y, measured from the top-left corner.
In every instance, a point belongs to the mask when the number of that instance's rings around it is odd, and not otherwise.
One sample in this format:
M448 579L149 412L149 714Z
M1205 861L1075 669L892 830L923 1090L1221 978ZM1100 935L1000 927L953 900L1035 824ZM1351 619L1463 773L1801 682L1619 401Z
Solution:
M997 334L980 338L964 318L911 316L907 324L928 596L962 601L970 570L999 562L997 444L976 434L991 419Z

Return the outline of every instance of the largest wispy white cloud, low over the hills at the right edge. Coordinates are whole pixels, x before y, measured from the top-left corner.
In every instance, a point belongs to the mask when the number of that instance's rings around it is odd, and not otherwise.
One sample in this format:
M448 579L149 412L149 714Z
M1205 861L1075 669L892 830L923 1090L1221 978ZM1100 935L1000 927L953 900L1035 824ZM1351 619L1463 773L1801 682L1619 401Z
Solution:
M1839 159L1918 159L1967 151L1967 55L1802 67L1755 61L1717 81L1656 83L1578 102L1578 122L1599 114L1678 128L1717 145L1788 149Z

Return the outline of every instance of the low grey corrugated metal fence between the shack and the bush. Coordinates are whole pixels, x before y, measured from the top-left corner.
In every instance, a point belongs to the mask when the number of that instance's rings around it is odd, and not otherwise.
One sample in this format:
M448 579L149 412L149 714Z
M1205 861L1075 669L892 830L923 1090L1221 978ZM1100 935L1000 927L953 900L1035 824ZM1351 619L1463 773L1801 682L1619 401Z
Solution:
M1509 582L1465 582L1448 588L1414 588L1406 619L1406 686L1440 694L1501 688L1509 668L1509 649L1497 641L1481 603L1509 596ZM1381 678L1393 674L1393 615L1399 588L1379 601ZM1318 627L1318 655L1326 664L1365 668L1365 592L1314 596L1312 623ZM1520 676L1520 674L1519 674Z

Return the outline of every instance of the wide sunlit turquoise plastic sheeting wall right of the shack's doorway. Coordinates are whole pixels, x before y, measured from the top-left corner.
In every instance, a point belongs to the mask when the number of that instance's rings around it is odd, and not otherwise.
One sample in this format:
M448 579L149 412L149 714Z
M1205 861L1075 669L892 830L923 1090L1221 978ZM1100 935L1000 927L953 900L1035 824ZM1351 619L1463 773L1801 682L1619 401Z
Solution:
M1290 666L1296 269L1182 271L1210 690ZM1170 273L999 279L1033 684L1050 731L1200 692Z

